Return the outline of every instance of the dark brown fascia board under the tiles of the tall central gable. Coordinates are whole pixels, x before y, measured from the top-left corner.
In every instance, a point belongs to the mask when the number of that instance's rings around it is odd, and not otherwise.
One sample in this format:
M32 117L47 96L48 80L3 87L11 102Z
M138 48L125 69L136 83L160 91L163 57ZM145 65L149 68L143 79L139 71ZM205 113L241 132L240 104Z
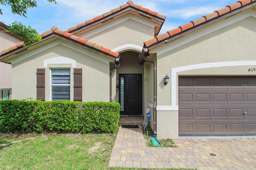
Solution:
M85 26L82 26L82 27L80 27L80 28L78 28L78 29L76 29L76 30L72 30L72 31L70 31L69 33L71 33L71 34L76 34L76 33L78 33L78 32L81 32L81 31L83 31L83 30L86 30L87 28L90 28L90 27L92 27L92 26L95 26L95 25L97 25L97 24L100 24L100 23L102 23L102 22L105 22L105 21L107 21L107 20L111 20L111 19L114 18L115 16L118 16L118 15L120 15L120 14L123 14L123 13L125 13L125 12L128 12L129 10L132 10L132 11L134 11L134 12L137 12L137 13L139 13L139 14L142 14L142 15L148 17L148 18L152 18L152 19L157 20L157 21L159 21L159 22L162 22L162 23L164 22L164 19L162 19L162 18L158 18L157 16L153 16L153 15L151 15L151 14L148 14L147 12L144 12L144 11L138 10L138 9L136 9L136 8L133 8L133 7L131 7L131 6L128 6L127 8L124 8L124 9L122 9L122 10L120 10L120 11L114 12L114 13L112 13L112 14L110 14L110 15L104 17L104 18L101 18L101 19L99 19L99 20L96 20L95 22L91 22L91 23L86 24Z

